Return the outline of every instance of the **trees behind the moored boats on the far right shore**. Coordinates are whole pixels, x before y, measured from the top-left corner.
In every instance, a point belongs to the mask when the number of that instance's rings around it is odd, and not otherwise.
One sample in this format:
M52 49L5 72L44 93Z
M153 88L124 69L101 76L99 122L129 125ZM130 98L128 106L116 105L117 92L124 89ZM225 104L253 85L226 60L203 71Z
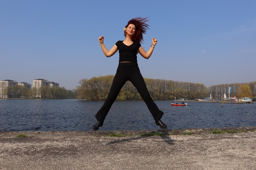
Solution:
M213 98L221 99L224 93L229 96L229 87L231 87L230 97L252 97L256 96L255 84L256 82L213 85L209 87L209 93Z

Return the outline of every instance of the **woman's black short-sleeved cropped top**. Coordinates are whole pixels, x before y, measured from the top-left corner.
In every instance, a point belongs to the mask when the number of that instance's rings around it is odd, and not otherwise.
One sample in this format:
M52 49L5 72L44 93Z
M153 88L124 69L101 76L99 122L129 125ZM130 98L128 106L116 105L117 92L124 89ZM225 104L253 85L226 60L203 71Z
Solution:
M119 40L116 45L119 50L119 62L137 62L137 53L141 46L139 42L133 42L127 46Z

